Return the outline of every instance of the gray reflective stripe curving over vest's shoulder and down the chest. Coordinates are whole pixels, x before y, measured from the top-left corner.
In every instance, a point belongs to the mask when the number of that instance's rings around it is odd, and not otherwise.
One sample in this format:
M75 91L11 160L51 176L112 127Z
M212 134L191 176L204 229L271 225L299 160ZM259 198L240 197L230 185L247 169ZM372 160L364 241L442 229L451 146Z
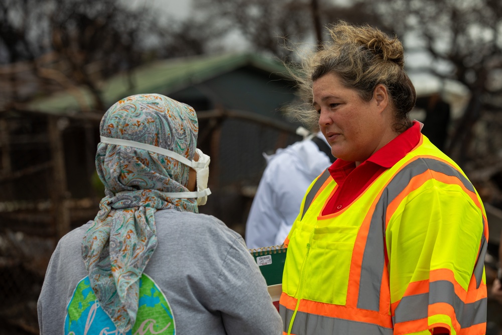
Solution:
M474 192L472 184L458 170L435 159L419 158L398 172L382 192L382 196L378 203L376 203L371 217L361 264L359 296L357 300L358 308L379 310L380 287L385 266L384 241L387 206L408 186L413 177L427 170L457 177L465 188Z

